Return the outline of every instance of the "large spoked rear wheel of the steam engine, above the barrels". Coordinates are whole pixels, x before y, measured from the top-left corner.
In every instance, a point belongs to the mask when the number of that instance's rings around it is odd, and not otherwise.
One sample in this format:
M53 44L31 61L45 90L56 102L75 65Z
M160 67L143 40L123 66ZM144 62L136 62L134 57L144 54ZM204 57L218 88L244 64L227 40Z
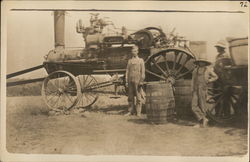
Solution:
M146 72L155 80L175 83L181 78L191 79L195 68L193 55L181 49L168 49L154 54L146 62ZM187 77L188 76L188 77Z

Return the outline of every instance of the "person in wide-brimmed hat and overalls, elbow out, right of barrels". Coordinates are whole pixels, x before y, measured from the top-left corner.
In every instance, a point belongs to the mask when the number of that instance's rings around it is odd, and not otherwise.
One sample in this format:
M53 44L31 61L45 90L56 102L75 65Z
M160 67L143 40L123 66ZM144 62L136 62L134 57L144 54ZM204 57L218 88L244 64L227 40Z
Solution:
M197 68L192 74L192 111L199 121L199 124L195 125L195 127L207 127L207 84L217 80L218 76L208 68L208 66L211 65L209 61L198 59L194 64Z

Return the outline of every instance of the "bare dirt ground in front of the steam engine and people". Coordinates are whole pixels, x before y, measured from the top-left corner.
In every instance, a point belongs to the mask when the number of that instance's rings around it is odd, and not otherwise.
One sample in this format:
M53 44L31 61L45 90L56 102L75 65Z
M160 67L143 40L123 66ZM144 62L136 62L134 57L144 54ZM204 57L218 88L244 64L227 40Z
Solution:
M192 120L153 125L125 117L125 96L101 95L91 111L49 116L39 97L7 98L7 150L82 155L241 156L247 129L194 128Z

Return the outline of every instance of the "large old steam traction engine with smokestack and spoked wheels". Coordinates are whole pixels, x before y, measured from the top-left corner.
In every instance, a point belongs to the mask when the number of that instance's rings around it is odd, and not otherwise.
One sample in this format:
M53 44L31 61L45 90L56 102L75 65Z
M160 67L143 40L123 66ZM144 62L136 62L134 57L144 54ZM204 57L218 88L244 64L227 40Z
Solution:
M9 74L7 78L42 67L48 76L22 83L7 83L8 86L43 81L42 96L49 108L89 107L97 101L99 88L112 84L124 86L131 46L137 44L139 57L145 61L146 82L170 82L175 89L177 113L190 110L190 80L196 59L191 51L192 42L175 35L174 30L165 34L157 27L129 33L125 27L117 29L112 21L91 14L89 26L84 26L81 20L76 24L76 32L82 35L85 47L68 49L64 44L64 26L65 11L54 11L55 48L45 56L43 65ZM110 32L111 28L113 32ZM99 82L95 78L99 74L111 75L113 79ZM211 116L215 118L215 115ZM223 117L217 118L220 119L217 121L224 121Z

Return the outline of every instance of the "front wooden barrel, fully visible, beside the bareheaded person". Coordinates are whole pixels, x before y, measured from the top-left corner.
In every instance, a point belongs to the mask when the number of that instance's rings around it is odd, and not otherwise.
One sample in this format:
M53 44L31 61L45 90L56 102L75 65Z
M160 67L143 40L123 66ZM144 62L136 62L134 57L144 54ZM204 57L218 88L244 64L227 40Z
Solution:
M150 82L146 86L146 113L152 123L163 124L175 113L172 86L165 82Z

